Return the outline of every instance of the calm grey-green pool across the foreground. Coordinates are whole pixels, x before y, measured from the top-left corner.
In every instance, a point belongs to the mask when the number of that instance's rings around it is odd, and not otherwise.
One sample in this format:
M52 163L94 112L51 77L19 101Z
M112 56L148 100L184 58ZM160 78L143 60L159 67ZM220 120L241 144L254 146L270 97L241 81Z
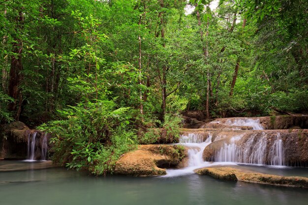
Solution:
M0 205L307 203L307 189L221 181L196 174L177 177L93 177L62 168L0 172Z

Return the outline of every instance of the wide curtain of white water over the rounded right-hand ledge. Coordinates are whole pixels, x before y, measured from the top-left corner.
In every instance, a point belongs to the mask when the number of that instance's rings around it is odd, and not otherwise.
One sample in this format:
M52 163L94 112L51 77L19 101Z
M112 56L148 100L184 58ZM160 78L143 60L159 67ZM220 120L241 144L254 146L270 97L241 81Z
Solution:
M275 141L268 148L268 136L262 133L249 136L246 142L238 143L239 139L231 138L230 143L224 143L216 152L216 162L238 162L247 164L270 164L284 166L283 143L280 134L277 133ZM242 144L241 144L242 143Z

